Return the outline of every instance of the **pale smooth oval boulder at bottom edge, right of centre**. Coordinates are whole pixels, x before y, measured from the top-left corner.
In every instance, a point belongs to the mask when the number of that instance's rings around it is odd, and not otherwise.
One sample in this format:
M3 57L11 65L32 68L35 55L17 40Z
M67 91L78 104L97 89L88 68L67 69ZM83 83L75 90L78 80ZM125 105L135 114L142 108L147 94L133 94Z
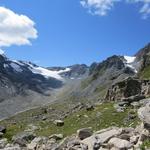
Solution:
M127 141L127 140L123 140L123 139L119 139L119 138L111 138L108 142L110 145L112 145L112 147L119 149L119 150L123 150L123 149L130 149L133 147L133 145Z

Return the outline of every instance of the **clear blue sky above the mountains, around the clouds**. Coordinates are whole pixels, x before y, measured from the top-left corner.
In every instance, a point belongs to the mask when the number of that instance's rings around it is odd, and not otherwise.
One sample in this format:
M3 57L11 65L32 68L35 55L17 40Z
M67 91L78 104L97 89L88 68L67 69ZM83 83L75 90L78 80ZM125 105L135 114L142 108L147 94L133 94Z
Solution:
M95 14L101 9L97 5L85 2L83 7L80 0L1 0L0 6L28 16L38 31L32 45L2 49L12 59L67 66L99 62L113 54L133 55L150 42L149 14L143 19L139 13L144 2L116 2L104 15Z

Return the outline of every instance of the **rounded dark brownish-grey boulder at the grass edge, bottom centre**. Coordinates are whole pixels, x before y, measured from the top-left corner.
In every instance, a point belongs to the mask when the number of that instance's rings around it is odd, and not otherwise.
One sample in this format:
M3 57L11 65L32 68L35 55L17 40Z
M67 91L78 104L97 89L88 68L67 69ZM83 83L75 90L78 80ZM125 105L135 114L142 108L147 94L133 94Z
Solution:
M77 131L77 137L83 140L93 134L92 128L83 128Z

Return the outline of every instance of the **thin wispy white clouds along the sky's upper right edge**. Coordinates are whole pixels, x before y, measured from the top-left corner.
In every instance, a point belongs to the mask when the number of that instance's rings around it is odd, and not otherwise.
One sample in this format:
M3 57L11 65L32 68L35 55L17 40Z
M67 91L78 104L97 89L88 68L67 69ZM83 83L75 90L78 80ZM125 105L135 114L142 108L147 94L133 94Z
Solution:
M126 4L141 4L139 13L142 14L142 18L146 19L150 16L150 0L80 0L80 4L93 15L105 16L115 3L123 1Z

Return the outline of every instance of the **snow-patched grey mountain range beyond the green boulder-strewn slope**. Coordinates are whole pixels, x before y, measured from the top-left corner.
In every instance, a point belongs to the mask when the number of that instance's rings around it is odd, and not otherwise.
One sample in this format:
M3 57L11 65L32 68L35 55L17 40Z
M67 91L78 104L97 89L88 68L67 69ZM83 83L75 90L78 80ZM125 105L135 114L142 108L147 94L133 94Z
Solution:
M103 101L127 77L149 79L150 44L134 56L111 56L90 66L40 67L0 54L0 119L54 101Z

